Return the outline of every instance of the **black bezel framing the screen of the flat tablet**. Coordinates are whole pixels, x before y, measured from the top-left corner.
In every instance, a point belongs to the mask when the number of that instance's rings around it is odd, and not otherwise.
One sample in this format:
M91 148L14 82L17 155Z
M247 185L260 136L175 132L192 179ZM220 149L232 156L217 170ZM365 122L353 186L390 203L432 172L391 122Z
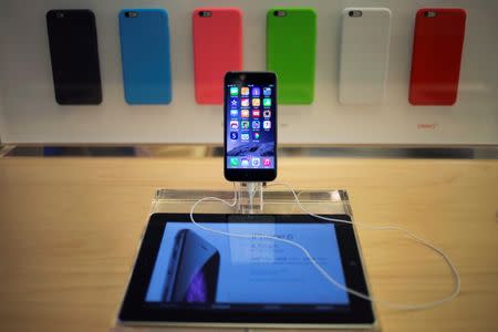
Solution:
M328 217L351 220L347 215L329 215ZM195 215L197 222L280 222L280 224L323 224L323 221L309 215ZM374 312L370 301L349 295L350 308L347 312L330 310L245 310L243 305L237 309L207 309L205 304L186 304L188 308L168 308L158 303L145 301L152 272L159 251L165 227L168 222L189 222L188 214L154 214L151 216L144 232L141 249L128 287L118 313L122 324L176 324L188 325L203 323L204 325L289 325L301 324L308 326L343 325L370 326L374 324ZM352 225L335 224L335 232L346 286L362 293L369 293L365 273L361 260L356 236ZM331 286L332 287L332 286ZM266 304L261 304L263 309ZM253 307L253 305L248 305ZM329 305L330 307L330 305Z

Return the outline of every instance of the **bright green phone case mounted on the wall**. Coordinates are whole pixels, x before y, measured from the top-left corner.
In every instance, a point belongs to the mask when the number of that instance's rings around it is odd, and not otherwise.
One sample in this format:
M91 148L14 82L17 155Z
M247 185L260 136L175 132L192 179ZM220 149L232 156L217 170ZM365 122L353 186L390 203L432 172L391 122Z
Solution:
M315 46L314 10L273 8L268 11L267 70L277 73L280 104L313 102Z

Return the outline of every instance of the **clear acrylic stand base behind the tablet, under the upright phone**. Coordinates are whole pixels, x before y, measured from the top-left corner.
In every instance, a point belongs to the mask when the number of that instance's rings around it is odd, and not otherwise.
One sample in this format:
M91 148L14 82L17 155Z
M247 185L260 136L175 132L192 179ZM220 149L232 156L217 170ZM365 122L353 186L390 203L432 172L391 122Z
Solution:
M290 190L276 190L262 183L240 183L236 186L238 204L228 206L216 200L205 200L197 205L195 214L264 214L264 215L302 215L305 214L295 203ZM191 206L204 197L217 197L232 203L234 190L175 190L158 189L152 203L151 214L189 214ZM352 209L346 190L297 190L301 205L313 214L350 215ZM162 331L320 331L317 329L262 329L262 328L179 328L179 326L124 326L116 323L112 332L162 332ZM322 330L323 331L323 330ZM341 331L333 329L333 331ZM365 331L365 330L344 330ZM377 328L369 331L378 331Z

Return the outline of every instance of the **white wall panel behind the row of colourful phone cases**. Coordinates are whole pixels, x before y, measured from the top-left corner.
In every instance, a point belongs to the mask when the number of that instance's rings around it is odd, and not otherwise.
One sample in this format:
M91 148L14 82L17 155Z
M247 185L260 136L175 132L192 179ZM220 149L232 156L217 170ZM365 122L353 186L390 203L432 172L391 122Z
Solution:
M222 107L194 101L194 8L243 11L243 66L264 70L269 8L312 7L318 12L315 101L280 106L283 144L498 144L498 1L120 1L4 0L0 12L0 133L3 143L221 143ZM129 106L123 96L117 13L123 8L165 8L172 33L173 103ZM345 7L393 12L387 97L383 106L338 101L340 14ZM415 12L460 7L467 30L455 106L412 106L407 101ZM45 12L94 11L103 83L97 106L55 103ZM3 106L2 106L3 105ZM424 124L425 126L421 126Z

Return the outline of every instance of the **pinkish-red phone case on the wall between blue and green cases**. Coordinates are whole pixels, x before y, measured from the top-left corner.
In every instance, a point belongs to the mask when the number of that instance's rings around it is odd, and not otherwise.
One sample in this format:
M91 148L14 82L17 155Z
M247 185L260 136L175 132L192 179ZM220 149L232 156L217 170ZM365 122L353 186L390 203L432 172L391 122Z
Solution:
M242 12L203 8L196 9L191 19L196 102L222 104L225 74L242 70Z

